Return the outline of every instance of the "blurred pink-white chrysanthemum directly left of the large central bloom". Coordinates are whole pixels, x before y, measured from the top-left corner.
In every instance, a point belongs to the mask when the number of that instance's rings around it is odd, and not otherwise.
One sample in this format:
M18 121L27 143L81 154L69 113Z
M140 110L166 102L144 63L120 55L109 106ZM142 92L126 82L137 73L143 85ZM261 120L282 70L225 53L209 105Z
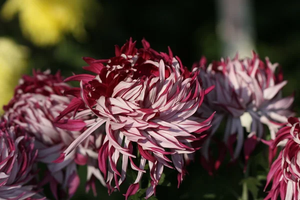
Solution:
M71 151L61 163L53 163L60 153L77 138L81 128L73 127L63 130L53 125L52 121L70 103L70 96L63 96L70 86L62 82L59 73L51 75L50 71L34 71L33 76L24 75L15 89L15 95L7 106L4 106L4 119L10 124L18 124L26 133L35 137L35 148L38 149L37 161L47 164L48 175L43 182L50 182L55 198L64 195L58 192L60 184L63 191L72 196L79 185L77 164L88 165L88 178L102 176L97 166L97 153L93 150L93 138L87 138L76 149ZM84 124L80 119L76 122ZM99 148L100 146L97 146ZM103 181L102 181L103 182ZM57 194L59 193L59 194Z

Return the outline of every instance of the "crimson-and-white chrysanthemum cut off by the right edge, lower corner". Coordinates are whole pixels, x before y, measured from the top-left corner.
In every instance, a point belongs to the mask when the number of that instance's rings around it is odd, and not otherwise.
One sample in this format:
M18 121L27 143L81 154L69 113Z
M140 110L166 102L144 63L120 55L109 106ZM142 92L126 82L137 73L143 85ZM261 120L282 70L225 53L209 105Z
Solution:
M271 165L267 175L266 186L273 179L271 189L265 199L299 199L300 198L300 122L296 117L288 118L288 124L276 134L272 143L275 148L279 142L285 146Z

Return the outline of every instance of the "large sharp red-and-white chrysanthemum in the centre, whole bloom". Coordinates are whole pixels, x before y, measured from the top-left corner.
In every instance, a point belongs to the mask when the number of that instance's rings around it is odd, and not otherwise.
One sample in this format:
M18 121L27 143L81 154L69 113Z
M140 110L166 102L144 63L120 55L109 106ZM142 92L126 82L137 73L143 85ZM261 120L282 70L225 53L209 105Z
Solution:
M95 75L79 74L66 79L80 81L80 88L72 90L77 101L61 114L85 106L87 109L77 112L75 118L91 113L96 116L95 121L86 122L88 128L69 145L61 160L105 123L106 136L98 163L108 189L119 188L128 164L138 171L126 198L138 190L146 162L151 177L146 197L155 193L164 166L176 168L179 184L185 173L183 155L199 148L192 147L191 142L203 140L206 135L202 131L210 127L213 115L206 120L192 116L204 94L213 87L205 91L197 73L191 74L170 49L168 54L158 53L144 39L142 44L143 48L137 49L130 39L121 48L115 47L115 57L85 57L89 66L84 68ZM64 128L80 124L70 121L57 125ZM117 168L118 161L121 169Z

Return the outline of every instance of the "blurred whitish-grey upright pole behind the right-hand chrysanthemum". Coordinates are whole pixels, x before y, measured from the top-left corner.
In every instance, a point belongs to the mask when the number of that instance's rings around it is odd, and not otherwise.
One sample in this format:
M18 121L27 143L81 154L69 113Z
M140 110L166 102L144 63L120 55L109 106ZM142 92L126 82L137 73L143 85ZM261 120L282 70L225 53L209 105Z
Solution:
M216 0L216 31L222 41L222 56L250 56L254 49L251 0Z

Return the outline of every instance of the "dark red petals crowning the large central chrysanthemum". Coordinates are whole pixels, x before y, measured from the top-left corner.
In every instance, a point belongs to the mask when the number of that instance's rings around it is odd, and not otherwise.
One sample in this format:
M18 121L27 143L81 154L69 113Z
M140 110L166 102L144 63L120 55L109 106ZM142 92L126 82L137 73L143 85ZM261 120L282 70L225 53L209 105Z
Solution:
M182 74L185 78L189 77L190 72L182 65L179 57L173 57L173 53L169 47L167 54L164 52L157 52L150 48L150 44L145 39L142 40L142 48L137 49L135 44L136 41L132 42L132 38L130 38L121 47L115 45L115 57L109 59L83 57L83 60L88 66L83 66L82 68L95 75L76 74L65 78L64 81L82 81L84 93L90 94L88 98L86 98L87 105L92 107L96 104L96 99L100 96L110 97L114 87L120 81L123 81L128 74L130 74L130 77L133 79L149 76L157 77L158 67L146 62L148 60L159 62L159 60L162 59L164 63L172 65L175 59L177 68L165 68L165 78L167 78L171 72L176 72L177 76ZM138 56L136 53L138 53ZM125 57L123 55L125 55ZM131 65L131 58L134 60L134 65ZM106 67L106 65L121 67ZM115 76L117 77L115 78ZM97 79L101 79L101 82ZM56 118L56 121L69 112L86 109L82 96L80 96L80 88L66 89L64 94L73 95L77 98L72 99L68 107Z

